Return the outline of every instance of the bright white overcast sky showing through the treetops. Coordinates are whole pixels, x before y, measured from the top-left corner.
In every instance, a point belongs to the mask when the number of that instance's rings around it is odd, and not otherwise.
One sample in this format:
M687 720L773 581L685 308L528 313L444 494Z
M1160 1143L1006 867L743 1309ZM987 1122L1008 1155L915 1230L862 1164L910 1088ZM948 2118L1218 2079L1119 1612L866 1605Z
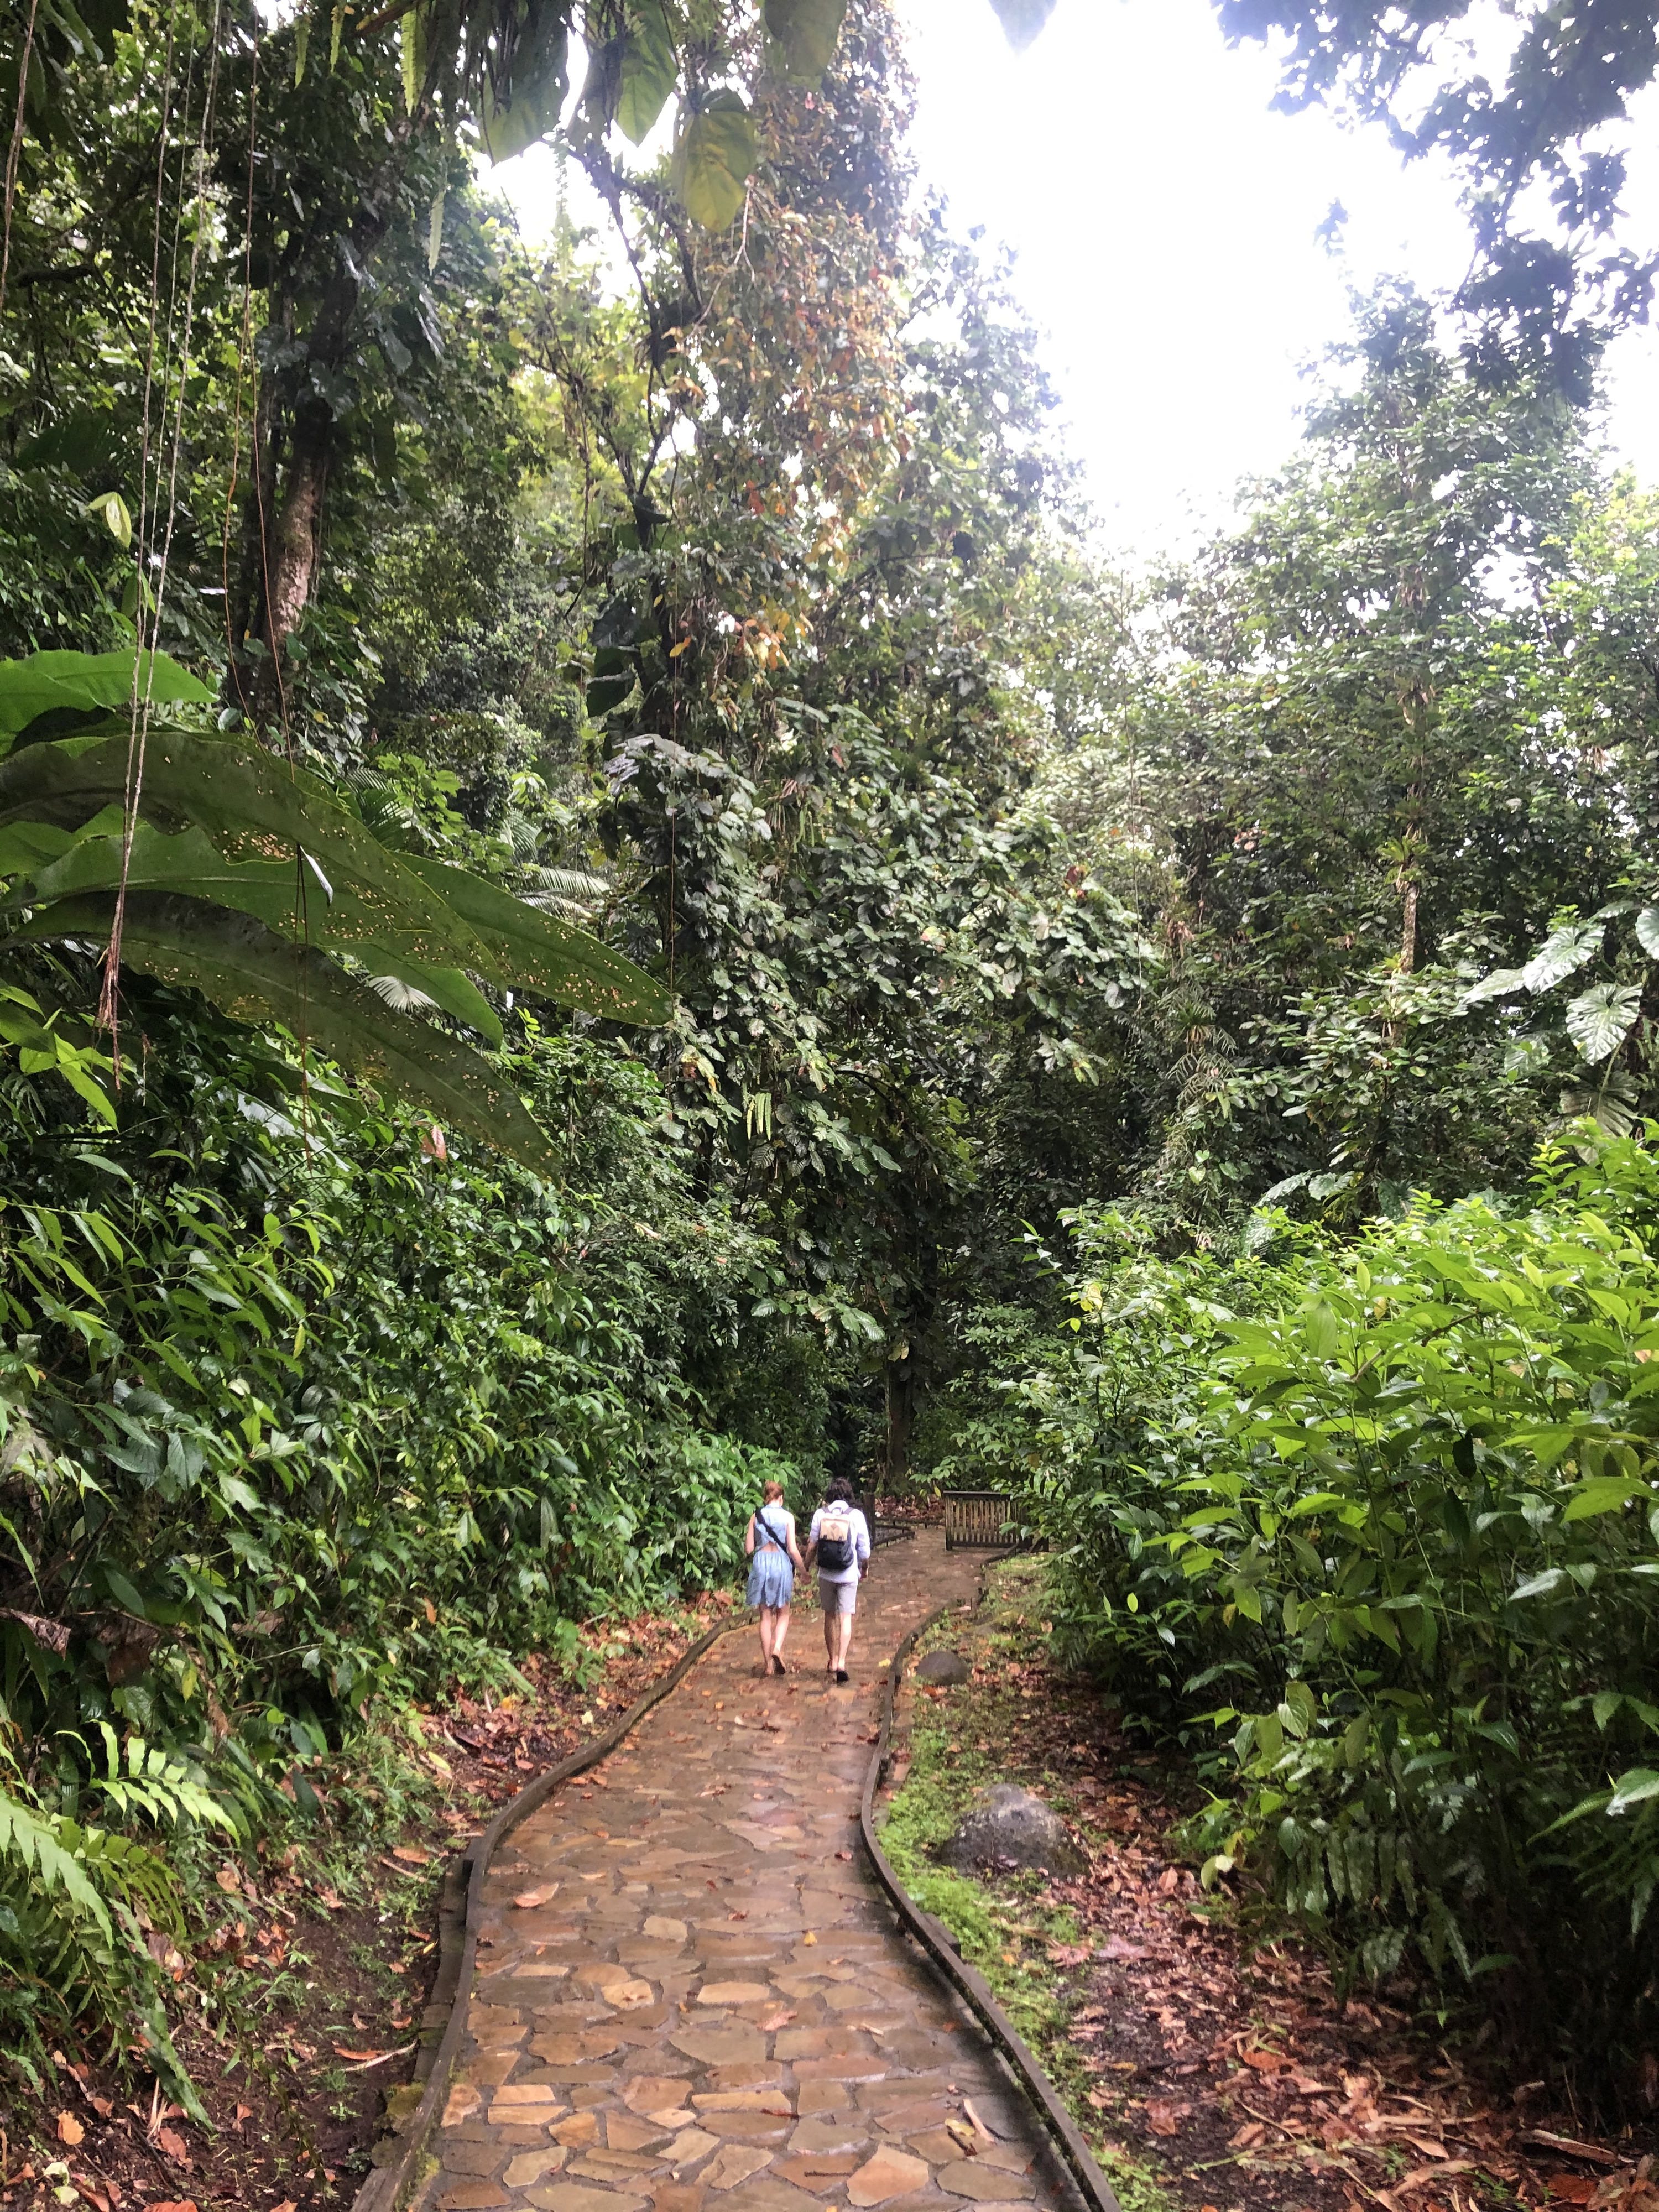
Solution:
M953 228L1018 252L1071 449L1106 538L1148 555L1221 520L1241 476L1296 442L1301 365L1347 330L1378 272L1458 283L1469 232L1444 170L1402 168L1380 131L1274 115L1272 60L1232 51L1210 0L1057 0L1015 55L989 0L898 0L918 77L914 148ZM1659 104L1644 102L1626 206L1659 237ZM1652 148L1652 150L1650 150ZM553 164L495 179L540 232ZM1343 250L1314 237L1334 199ZM1659 336L1613 361L1610 440L1659 478Z

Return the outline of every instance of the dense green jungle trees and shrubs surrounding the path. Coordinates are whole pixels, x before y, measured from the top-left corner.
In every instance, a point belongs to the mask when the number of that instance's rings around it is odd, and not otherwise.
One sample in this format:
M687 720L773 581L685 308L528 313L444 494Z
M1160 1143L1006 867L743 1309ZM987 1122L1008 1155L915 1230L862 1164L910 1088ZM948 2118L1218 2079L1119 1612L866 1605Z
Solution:
M1221 9L1398 131L1416 13ZM1659 507L1575 153L1655 51L1537 13L1431 117L1484 290L1356 299L1128 575L885 0L7 0L7 2064L188 2099L217 1836L836 1469L1018 1493L1208 1880L1659 2095ZM608 223L529 248L549 133Z

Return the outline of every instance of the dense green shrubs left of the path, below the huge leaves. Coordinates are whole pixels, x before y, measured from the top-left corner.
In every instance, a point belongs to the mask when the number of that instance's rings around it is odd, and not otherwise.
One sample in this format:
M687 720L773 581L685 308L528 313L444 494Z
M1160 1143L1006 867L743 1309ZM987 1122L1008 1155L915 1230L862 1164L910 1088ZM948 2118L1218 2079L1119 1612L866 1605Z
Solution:
M133 984L119 1102L11 1011L0 2033L40 2064L73 2008L188 2104L153 1938L215 1827L316 1818L403 1703L739 1573L785 1462L699 1429L681 1363L768 1248L653 1150L637 1062L522 1018L544 1126L582 1099L560 1186L192 993Z

